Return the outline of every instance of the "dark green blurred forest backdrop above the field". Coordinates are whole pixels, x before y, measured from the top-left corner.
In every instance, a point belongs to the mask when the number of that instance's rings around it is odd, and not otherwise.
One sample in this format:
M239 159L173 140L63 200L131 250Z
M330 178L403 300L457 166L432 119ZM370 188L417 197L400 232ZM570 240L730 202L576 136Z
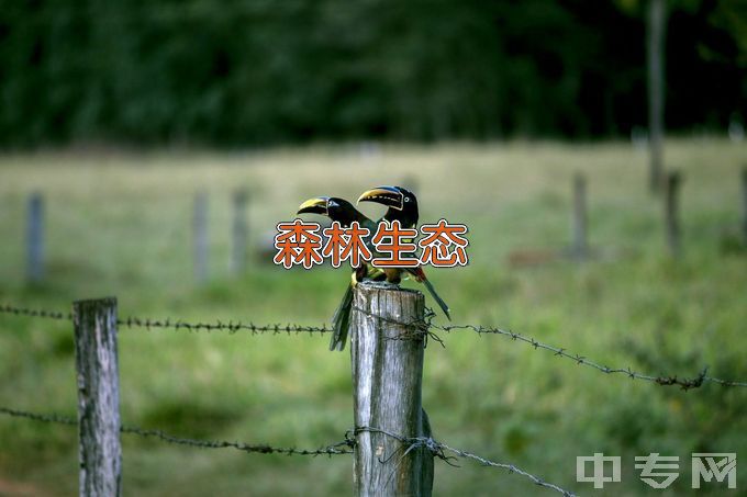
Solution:
M669 2L667 124L747 108L747 2ZM0 145L590 138L646 122L640 0L0 0Z

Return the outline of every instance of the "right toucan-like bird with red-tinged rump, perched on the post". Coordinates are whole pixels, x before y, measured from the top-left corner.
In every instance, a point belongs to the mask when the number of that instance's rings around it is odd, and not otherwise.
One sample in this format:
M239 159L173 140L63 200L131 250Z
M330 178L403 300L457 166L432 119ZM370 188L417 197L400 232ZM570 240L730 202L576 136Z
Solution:
M360 202L376 202L388 207L384 215L377 222L377 225L384 221L388 223L398 221L402 228L414 228L417 226L417 218L420 216L417 197L413 192L402 187L377 187L367 190L358 197L358 203ZM431 281L425 276L425 271L420 266L415 268L387 268L384 269L387 282L399 284L402 279L402 272L408 272L415 281L423 283L433 300L438 304L438 307L451 320L448 305L438 295L436 289L433 287Z

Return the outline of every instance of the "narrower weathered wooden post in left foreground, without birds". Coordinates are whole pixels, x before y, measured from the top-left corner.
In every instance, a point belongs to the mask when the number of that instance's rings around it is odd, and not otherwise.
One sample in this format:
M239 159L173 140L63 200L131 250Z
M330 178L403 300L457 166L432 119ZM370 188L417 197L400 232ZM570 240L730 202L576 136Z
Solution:
M122 490L116 298L73 304L78 376L80 496Z

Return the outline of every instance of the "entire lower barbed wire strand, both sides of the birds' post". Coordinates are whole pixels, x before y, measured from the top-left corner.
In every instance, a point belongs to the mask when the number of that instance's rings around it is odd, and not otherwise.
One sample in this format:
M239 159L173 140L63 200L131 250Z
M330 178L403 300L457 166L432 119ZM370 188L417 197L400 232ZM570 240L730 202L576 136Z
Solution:
M40 414L40 413L32 413L27 410L19 410L19 409L12 409L9 407L3 407L0 406L0 415L5 415L14 418L22 418L22 419L30 419L33 421L40 421L40 422L48 422L48 423L58 423L58 425L66 425L66 426L77 426L78 420L69 417L69 416L62 416L58 414ZM134 427L134 426L126 426L123 425L121 430L122 433L127 433L127 434L135 434L138 437L143 438L156 438L163 442L166 443L171 443L171 444L177 444L177 445L187 445L187 447L192 447L197 449L236 449L242 452L247 452L247 453L258 453L258 454L286 454L286 455L343 455L343 454L352 454L355 451L355 439L353 439L350 436L355 434L360 431L372 431L372 432L378 432L378 433L383 433L386 436L395 438L400 442L404 444L402 448L403 454L408 453L412 450L419 449L419 448L425 448L428 451L431 451L434 456L443 460L445 463L454 466L454 456L447 455L447 453L455 454L456 456L462 458L462 459L469 459L472 461L479 462L483 466L490 466L490 467L497 467L497 468L502 468L502 470L508 470L510 474L515 473L517 475L524 476L528 479L531 479L535 485L549 488L553 490L556 490L564 496L567 497L575 497L576 494L565 490L560 488L557 485L554 485L551 483L545 482L543 478L533 475L532 473L528 473L520 467L517 467L514 464L509 464L509 463L499 463L495 461L491 461L489 459L482 458L480 455L473 454L471 452L467 452L464 450L455 449L450 445L447 445L446 443L438 442L434 440L431 437L415 437L415 438L405 438L401 437L397 433L391 433L386 430L381 430L378 428L371 428L371 427L357 427L354 430L348 431L345 433L345 440L333 443L320 449L296 449L296 448L278 448L278 447L272 447L268 444L255 444L250 445L247 443L243 442L232 442L227 440L197 440L197 439L188 439L188 438L182 438L182 437L175 437L172 434L168 434L161 430L153 430L153 429L144 429L140 427Z

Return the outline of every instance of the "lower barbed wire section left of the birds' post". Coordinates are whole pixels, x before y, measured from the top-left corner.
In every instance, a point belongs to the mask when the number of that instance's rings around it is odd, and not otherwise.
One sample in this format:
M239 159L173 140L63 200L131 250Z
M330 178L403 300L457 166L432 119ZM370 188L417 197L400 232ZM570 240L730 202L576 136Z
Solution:
M11 409L9 407L0 406L0 415L7 415L15 418L31 419L41 422L51 422L68 426L77 426L78 420L69 416L60 416L57 414L38 414L25 410ZM122 433L136 434L143 438L156 438L163 442L174 443L178 445L188 445L199 449L236 449L247 453L259 454L286 454L286 455L338 455L352 454L354 442L345 437L342 442L333 443L331 445L322 447L320 449L296 449L296 448L278 448L268 445L266 443L248 444L244 442L232 442L226 440L196 440L182 437L175 437L161 430L148 430L140 427L122 425L120 428Z

